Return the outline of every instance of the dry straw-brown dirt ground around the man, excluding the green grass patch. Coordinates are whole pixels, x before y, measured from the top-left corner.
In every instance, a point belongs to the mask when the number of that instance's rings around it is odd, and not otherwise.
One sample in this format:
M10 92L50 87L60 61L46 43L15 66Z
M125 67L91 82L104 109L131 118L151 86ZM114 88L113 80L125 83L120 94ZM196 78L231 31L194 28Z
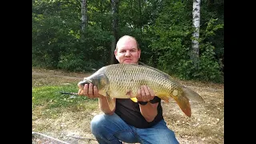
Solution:
M89 74L32 69L32 86L40 86L46 82L48 84L79 82L87 75ZM210 82L178 81L198 92L205 100L203 104L190 103L192 109L190 118L182 113L174 101L162 102L167 126L174 130L178 141L181 144L224 143L224 85ZM38 132L38 134L32 134L32 143L98 143L90 134L90 120L99 113L101 111L98 109L66 111L54 119L32 118L32 133ZM46 138L42 134L50 138ZM53 138L57 139L53 140Z

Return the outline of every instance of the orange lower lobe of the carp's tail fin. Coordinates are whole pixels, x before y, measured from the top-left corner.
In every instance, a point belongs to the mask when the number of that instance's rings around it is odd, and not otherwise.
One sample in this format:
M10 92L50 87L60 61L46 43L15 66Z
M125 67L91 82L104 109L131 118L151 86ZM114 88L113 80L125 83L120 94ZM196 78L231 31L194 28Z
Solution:
M189 98L186 98L186 96L181 95L179 97L175 97L174 100L177 102L178 106L182 109L183 113L186 114L186 116L191 117L191 108L190 108Z

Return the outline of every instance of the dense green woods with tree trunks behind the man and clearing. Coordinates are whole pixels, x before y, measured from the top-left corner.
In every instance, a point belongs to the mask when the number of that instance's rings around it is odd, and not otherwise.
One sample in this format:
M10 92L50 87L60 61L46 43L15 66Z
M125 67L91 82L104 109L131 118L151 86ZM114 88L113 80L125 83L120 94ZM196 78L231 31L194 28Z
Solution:
M126 34L146 65L223 82L224 0L32 0L32 66L85 72L116 63Z

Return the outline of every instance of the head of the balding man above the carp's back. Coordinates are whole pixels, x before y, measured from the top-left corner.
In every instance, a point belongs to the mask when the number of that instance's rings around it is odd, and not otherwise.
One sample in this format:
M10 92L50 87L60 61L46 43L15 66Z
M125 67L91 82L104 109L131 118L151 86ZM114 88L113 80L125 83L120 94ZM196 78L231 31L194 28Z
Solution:
M115 58L119 63L135 63L141 56L141 50L138 50L137 43L134 38L122 38L117 43L118 50L114 50Z

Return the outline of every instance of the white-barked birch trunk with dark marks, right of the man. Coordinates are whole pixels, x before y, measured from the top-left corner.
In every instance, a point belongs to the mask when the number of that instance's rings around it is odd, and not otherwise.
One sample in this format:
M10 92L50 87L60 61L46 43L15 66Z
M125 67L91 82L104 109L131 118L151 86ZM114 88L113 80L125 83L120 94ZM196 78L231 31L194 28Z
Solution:
M199 60L199 30L200 30L200 2L201 0L193 0L193 26L194 33L192 35L192 52L190 58L194 62L194 65L198 66Z

